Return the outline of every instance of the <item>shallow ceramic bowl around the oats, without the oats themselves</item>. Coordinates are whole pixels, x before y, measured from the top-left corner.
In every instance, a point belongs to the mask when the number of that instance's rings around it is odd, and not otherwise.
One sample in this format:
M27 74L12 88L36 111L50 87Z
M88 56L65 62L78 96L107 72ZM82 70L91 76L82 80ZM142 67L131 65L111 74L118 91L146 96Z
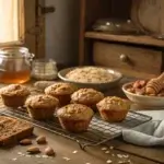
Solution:
M110 82L106 82L106 83L82 83L82 82L75 82L75 81L67 79L66 74L75 68L82 68L82 67L63 69L63 70L58 72L58 77L62 81L73 83L78 87L92 87L92 89L95 89L98 91L108 91L110 87L116 86L122 78L122 74L120 72L113 70L113 69L109 69L109 68L105 68L105 69L107 69L108 73L113 74L113 77L114 77L114 80L112 80Z

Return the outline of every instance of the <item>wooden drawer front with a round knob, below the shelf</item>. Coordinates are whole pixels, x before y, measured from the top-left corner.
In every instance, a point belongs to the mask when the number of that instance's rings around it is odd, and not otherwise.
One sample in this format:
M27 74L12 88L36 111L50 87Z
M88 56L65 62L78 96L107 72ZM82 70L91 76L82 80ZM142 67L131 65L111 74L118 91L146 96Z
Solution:
M122 61L120 56L126 56L127 61ZM162 67L162 51L104 42L94 42L93 61L95 65L117 69L126 75L134 77L134 73L159 75Z

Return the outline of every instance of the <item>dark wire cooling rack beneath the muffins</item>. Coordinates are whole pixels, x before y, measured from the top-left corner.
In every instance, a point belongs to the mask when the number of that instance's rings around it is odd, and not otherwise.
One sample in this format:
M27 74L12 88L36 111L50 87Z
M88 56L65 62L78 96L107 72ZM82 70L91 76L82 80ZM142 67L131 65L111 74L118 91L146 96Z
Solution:
M86 132L71 133L60 127L58 118L55 116L51 120L38 121L28 117L25 108L19 109L3 109L0 115L20 118L32 122L33 125L51 131L56 134L74 140L80 148L84 150L85 147L99 145L114 138L121 136L122 129L130 129L152 119L152 117L130 110L126 119L121 122L109 124L101 119L96 114Z

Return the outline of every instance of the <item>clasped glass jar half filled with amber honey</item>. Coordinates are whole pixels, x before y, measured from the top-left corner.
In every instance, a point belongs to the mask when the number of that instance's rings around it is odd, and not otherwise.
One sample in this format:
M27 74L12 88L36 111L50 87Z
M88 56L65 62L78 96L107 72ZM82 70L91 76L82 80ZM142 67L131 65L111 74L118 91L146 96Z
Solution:
M31 79L34 54L26 47L0 48L0 83L25 83Z

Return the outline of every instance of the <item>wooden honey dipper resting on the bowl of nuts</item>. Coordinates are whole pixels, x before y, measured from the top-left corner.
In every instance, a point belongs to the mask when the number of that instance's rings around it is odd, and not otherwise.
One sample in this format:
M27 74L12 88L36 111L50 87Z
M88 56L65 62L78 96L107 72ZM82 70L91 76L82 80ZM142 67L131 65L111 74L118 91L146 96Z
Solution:
M164 89L164 72L154 79L151 79L145 85L145 92L148 94L157 94L162 89Z

